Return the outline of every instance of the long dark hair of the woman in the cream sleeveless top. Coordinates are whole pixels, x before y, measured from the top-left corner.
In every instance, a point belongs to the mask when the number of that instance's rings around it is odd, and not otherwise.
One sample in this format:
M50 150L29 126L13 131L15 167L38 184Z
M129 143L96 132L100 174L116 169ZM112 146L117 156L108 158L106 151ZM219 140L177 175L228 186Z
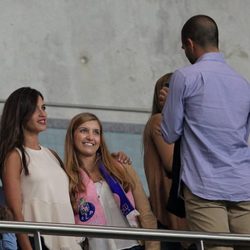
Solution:
M38 97L42 94L30 87L15 90L6 100L0 122L0 171L1 177L8 155L18 148L22 155L22 167L29 174L24 149L23 128L34 113Z

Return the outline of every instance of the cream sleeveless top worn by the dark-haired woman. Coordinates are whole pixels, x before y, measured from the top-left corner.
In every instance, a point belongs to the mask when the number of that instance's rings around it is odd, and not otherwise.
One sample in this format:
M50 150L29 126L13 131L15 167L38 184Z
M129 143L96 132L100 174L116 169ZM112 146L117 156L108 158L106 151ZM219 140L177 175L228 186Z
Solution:
M25 148L29 175L21 173L22 208L25 221L75 224L69 197L69 180L49 149ZM19 152L20 154L20 152ZM80 250L79 239L43 235L50 250Z

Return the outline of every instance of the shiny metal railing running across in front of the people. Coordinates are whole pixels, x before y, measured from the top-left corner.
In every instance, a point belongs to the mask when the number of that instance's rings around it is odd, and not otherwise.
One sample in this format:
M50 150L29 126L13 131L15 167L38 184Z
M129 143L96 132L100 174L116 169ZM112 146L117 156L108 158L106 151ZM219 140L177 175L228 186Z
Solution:
M41 235L76 237L119 238L196 243L204 250L204 242L215 245L250 246L250 234L201 233L159 229L121 228L107 226L82 226L72 224L48 224L34 222L1 221L0 232L34 234L35 249L41 250Z

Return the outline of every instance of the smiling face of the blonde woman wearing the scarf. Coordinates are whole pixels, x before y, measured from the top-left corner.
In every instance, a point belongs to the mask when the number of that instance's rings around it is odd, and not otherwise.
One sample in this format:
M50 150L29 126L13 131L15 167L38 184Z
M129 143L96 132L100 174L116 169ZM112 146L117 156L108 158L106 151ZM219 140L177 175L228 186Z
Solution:
M74 131L74 145L82 156L96 156L101 144L101 128L96 120L82 123Z

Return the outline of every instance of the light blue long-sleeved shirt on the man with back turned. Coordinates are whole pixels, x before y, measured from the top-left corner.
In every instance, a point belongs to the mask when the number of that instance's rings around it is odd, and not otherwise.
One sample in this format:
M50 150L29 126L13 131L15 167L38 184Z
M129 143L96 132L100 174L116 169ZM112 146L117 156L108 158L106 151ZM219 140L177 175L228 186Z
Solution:
M250 85L221 53L178 69L163 109L162 134L181 141L181 179L209 200L250 201Z

